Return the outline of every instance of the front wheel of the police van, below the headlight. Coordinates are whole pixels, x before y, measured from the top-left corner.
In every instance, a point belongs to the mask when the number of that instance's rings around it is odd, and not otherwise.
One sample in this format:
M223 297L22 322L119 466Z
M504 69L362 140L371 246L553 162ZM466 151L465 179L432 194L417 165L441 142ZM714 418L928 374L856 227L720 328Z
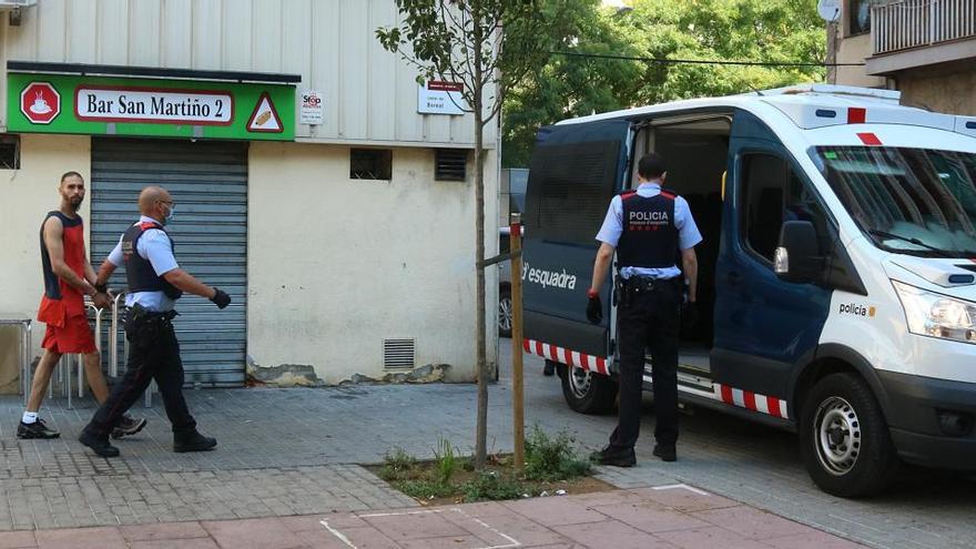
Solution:
M897 472L881 406L852 374L830 375L813 387L800 415L800 444L813 481L834 496L876 494Z

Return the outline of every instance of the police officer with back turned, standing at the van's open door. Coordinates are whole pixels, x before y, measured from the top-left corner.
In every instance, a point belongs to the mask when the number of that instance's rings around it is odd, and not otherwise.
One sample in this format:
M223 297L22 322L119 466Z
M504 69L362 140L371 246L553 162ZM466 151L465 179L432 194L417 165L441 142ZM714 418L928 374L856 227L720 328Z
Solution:
M587 318L603 319L600 288L617 253L617 325L620 349L620 410L610 444L594 453L602 465L631 467L640 433L644 353L650 349L654 384L654 456L677 459L678 335L683 314L693 314L698 260L694 245L702 237L688 203L661 190L664 161L649 153L638 164L640 185L610 202L597 234L600 248L593 283L587 292ZM677 258L681 255L682 270ZM683 295L688 289L687 301Z

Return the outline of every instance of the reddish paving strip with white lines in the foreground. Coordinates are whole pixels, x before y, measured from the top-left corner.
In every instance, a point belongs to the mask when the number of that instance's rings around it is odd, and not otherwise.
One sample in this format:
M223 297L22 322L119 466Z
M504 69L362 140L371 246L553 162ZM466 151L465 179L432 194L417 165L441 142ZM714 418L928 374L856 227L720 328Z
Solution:
M692 487L287 518L0 532L2 548L863 547Z

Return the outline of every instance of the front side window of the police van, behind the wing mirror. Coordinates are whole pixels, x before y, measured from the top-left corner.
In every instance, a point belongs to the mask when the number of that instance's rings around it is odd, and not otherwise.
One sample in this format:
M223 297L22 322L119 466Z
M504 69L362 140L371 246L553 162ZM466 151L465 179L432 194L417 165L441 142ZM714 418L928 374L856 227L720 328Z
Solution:
M823 205L784 159L750 154L743 163L741 236L743 244L772 263L784 221L809 221L816 228L821 253L831 232Z

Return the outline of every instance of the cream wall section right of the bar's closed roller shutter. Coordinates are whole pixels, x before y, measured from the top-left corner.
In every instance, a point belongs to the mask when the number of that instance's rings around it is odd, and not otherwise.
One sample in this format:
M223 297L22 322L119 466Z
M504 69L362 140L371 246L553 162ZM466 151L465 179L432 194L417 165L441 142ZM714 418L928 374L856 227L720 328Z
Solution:
M248 163L247 354L257 365L312 365L328 384L378 378L383 339L416 338L418 366L475 378L472 161L467 182L434 181L429 149L394 149L389 182L349 180L346 146L255 142ZM495 270L488 281L492 304ZM494 306L487 318L494 363Z

